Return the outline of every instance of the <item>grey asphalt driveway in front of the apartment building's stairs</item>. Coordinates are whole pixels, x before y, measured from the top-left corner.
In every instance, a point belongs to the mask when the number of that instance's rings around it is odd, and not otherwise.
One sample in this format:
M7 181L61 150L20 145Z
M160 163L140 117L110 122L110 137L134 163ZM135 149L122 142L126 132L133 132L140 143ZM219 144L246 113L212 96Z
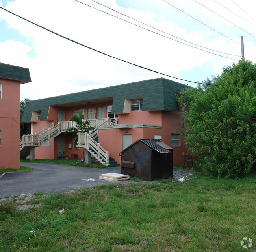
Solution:
M67 190L110 184L98 179L102 173L120 173L120 167L87 168L52 163L22 163L32 167L31 172L0 173L0 198L33 194L36 192L65 192ZM126 183L127 181L118 181Z

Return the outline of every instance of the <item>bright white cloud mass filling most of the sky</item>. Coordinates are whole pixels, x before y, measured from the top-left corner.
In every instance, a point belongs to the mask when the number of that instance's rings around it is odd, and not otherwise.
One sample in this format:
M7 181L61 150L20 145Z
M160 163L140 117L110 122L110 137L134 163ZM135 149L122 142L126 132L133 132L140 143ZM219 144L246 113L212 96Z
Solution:
M92 1L84 2L104 9L93 4ZM232 41L201 25L193 27L192 31L185 29L186 26L181 23L182 14L177 14L177 11L172 10L173 15L168 15L170 9L166 4L161 5L163 7L161 15L161 13L153 13L153 11L144 12L119 7L115 0L101 2L121 13L196 44L217 48L232 54L238 53L239 55L241 53L239 45L234 45ZM152 1L151 4L153 6L158 3ZM205 10L200 12L201 7L197 8L197 5L191 1L176 1L174 4L189 10L189 13L198 14L200 18L212 16ZM209 71L212 71L211 74L215 75L221 73L224 65L234 62L234 60L220 58L173 42L168 38L132 26L73 0L16 0L8 2L6 9L114 57L174 77L180 77L180 72L182 72L182 79L191 80L189 76L184 75L184 72L195 67L204 66L205 69L205 64L207 64ZM104 11L108 10L104 9ZM118 16L124 18L124 16ZM33 42L33 50L36 54L33 57L28 56L31 47L23 42L15 42L10 38L0 43L1 62L30 69L32 83L21 86L21 99L39 99L161 77L156 73L74 44L2 10L0 10L0 18L6 20L11 29L17 29L26 37L26 40ZM178 23L176 18L179 18ZM142 26L142 24L139 25ZM232 38L240 41L240 35L233 34ZM245 38L245 43L255 49L251 38ZM255 54L251 53L250 57L255 58ZM205 78L205 76L197 76L196 80L192 80L202 81Z

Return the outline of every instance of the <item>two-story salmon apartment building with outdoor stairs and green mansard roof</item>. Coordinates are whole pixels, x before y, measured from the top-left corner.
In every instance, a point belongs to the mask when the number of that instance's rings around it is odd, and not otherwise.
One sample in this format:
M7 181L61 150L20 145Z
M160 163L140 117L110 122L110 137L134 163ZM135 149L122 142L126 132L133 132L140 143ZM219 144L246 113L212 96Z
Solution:
M22 122L31 123L31 135L22 139L21 157L31 153L32 158L54 159L65 152L80 158L85 148L88 159L113 165L138 139L161 139L173 148L174 163L183 162L186 147L176 132L182 123L176 94L186 87L158 78L27 102ZM79 109L96 128L80 134L74 146L74 133L65 131Z

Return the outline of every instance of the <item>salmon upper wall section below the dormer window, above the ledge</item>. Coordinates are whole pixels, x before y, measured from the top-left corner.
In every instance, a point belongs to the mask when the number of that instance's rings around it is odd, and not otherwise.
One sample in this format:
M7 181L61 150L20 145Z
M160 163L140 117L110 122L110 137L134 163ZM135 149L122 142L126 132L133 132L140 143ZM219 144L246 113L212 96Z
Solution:
M118 124L149 124L162 125L161 111L131 111L129 114L118 115Z

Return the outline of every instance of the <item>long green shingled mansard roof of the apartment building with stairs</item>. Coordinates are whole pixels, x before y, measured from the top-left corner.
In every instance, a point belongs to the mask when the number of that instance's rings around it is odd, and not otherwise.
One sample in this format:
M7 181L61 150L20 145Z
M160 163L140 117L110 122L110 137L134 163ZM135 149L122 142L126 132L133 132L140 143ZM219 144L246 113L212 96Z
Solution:
M112 113L122 113L124 100L134 97L143 97L142 110L171 110L179 111L176 102L176 93L186 85L164 78L144 80L108 88L100 88L68 95L60 95L45 99L33 100L26 103L22 122L30 122L32 111L41 110L41 120L47 120L49 106L92 100L113 96Z

